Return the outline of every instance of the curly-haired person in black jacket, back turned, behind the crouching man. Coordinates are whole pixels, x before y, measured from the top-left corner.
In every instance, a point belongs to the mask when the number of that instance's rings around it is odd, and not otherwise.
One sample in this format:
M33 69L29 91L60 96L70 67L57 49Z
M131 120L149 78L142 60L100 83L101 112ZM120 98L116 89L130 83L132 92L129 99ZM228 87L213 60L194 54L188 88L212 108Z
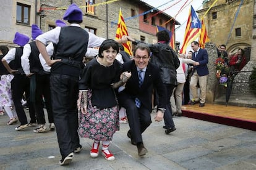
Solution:
M160 68L161 79L166 88L166 111L164 112L164 125L166 129L164 132L169 134L176 130L173 114L171 110L171 94L173 93L174 87L177 86L176 69L179 67L179 58L176 52L169 46L170 36L168 31L163 30L156 33L158 43L150 46L151 52L151 63L154 63ZM158 105L158 90L156 89L156 104Z

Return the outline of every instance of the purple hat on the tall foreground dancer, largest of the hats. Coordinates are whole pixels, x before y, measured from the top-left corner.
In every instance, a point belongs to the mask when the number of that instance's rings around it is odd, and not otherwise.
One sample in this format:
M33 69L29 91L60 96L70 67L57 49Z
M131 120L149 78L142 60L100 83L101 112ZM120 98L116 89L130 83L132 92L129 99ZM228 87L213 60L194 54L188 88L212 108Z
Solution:
M63 16L64 20L73 20L80 21L83 20L82 10L77 6L77 4L73 3L66 10L66 13Z

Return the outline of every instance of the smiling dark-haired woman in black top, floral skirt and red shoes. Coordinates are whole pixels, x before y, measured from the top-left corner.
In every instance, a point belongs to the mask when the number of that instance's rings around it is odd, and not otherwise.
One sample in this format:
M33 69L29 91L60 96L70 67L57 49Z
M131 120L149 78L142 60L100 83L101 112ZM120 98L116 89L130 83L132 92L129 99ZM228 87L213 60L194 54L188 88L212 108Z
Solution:
M102 155L113 161L108 150L113 135L119 130L119 112L114 89L124 85L130 73L121 73L122 65L115 58L119 47L113 39L106 39L100 46L98 56L87 63L79 83L81 137L93 139L90 156L96 158L102 141Z

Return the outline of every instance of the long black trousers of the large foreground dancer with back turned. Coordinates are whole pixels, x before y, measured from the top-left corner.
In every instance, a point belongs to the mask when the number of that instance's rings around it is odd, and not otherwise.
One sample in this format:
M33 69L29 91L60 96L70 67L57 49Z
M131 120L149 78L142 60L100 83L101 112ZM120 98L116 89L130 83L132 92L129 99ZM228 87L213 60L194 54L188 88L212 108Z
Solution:
M77 99L79 78L51 74L50 87L59 149L62 157L79 147Z

